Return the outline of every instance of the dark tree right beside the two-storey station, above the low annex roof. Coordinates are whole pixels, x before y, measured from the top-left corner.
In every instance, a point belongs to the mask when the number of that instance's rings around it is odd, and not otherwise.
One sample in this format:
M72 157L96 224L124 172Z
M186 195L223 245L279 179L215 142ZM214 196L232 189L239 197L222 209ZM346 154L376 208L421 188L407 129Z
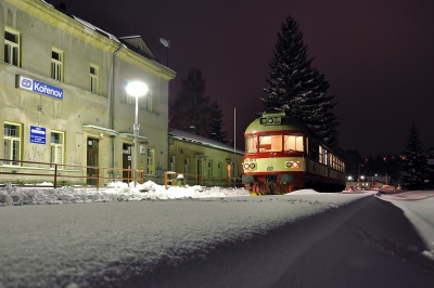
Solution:
M206 80L202 70L192 68L188 71L186 80L182 80L178 96L173 108L170 127L183 131L191 131L206 136L210 117L209 96L206 95Z

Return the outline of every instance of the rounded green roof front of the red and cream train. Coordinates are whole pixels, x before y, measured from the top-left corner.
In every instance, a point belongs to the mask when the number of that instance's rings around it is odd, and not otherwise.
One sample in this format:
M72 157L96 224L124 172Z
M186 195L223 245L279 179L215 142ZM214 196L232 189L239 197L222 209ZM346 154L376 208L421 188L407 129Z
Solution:
M255 119L247 127L245 134L255 133L257 131L276 130L297 130L310 133L304 123L288 116L284 112L265 112L261 117Z

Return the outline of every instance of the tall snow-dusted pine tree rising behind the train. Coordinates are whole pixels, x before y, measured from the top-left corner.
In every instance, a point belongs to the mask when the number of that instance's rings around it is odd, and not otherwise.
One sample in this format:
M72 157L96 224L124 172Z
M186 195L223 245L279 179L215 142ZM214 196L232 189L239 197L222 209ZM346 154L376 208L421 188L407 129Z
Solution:
M339 122L331 112L336 104L332 103L334 96L327 95L330 83L324 75L311 68L312 60L307 57L307 45L298 24L291 16L286 17L269 63L269 87L264 89L267 97L260 101L266 109L283 108L326 144L336 147Z

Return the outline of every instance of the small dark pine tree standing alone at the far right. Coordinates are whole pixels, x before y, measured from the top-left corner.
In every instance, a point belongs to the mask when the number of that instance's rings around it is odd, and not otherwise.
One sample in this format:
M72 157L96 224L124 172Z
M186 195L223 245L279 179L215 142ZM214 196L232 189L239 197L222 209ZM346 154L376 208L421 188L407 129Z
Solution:
M409 130L405 150L404 171L401 171L404 185L410 189L423 188L426 178L426 155L422 150L419 131L414 125Z

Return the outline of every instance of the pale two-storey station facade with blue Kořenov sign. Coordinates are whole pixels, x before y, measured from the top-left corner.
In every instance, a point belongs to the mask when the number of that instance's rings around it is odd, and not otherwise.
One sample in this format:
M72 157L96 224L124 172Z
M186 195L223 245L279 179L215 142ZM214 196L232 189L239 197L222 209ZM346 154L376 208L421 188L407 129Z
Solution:
M176 74L140 36L114 37L46 1L0 0L0 171L40 172L52 167L38 162L51 162L63 175L89 176L93 169L78 167L127 169L135 158L151 180L168 170ZM138 102L136 156L131 81L149 88Z

